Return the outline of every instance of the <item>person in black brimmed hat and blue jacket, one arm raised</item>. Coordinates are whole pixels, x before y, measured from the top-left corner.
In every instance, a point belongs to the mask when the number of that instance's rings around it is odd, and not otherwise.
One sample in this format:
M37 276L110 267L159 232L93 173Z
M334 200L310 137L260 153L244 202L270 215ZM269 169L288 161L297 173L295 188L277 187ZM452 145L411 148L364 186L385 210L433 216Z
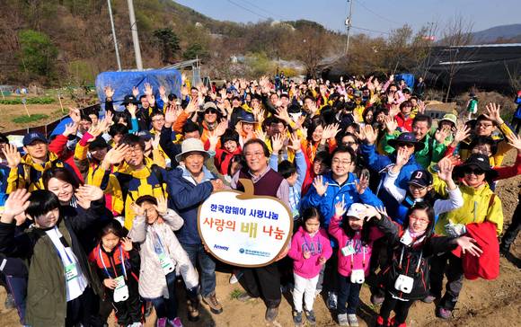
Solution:
M382 187L382 181L384 180L387 170L396 162L396 152L388 156L378 155L375 150L375 140L377 137L375 130L371 126L366 126L362 129L360 136L365 139L365 144L362 146L362 155L364 155L364 159L371 169L381 173L382 180L380 181L378 190L376 190L376 195L384 202L389 217L395 219L398 216L400 204ZM402 190L408 190L408 182L411 179L412 172L423 169L423 167L416 162L414 153L421 150L424 144L414 137L414 133L409 132L402 133L398 137L389 140L388 144L389 146L393 146L396 150L404 148L409 155L409 161L402 167L395 181L396 186ZM402 221L398 221L398 223L402 224Z

